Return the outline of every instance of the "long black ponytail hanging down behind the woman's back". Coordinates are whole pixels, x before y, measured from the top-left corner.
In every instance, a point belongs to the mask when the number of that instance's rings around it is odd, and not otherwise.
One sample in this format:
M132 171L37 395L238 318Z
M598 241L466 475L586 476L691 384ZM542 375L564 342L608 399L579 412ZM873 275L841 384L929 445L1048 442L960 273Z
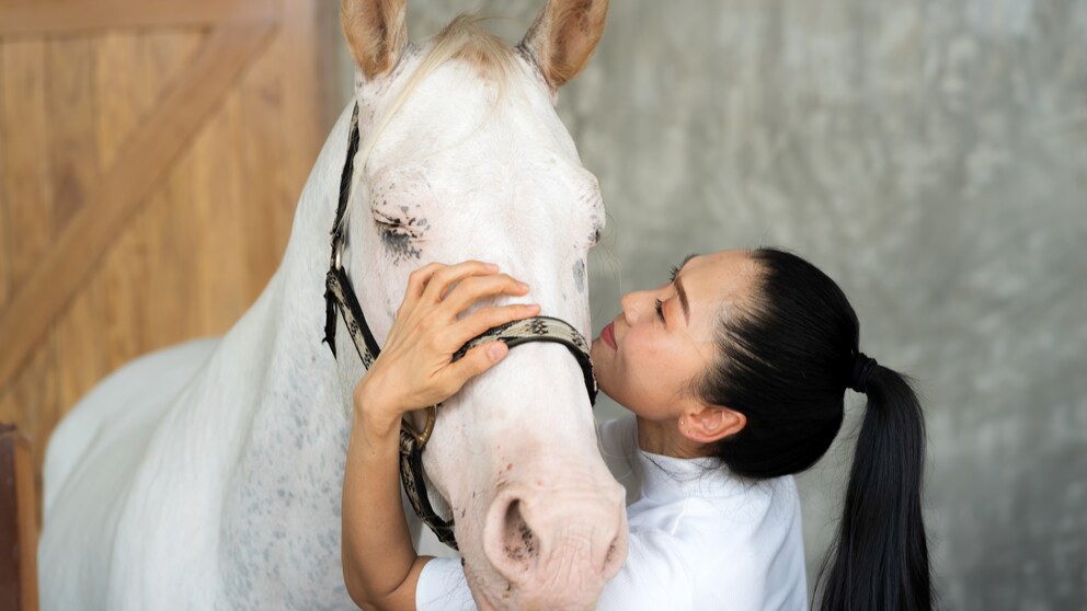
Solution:
M876 366L837 539L816 580L821 611L932 608L920 509L925 425L907 379Z

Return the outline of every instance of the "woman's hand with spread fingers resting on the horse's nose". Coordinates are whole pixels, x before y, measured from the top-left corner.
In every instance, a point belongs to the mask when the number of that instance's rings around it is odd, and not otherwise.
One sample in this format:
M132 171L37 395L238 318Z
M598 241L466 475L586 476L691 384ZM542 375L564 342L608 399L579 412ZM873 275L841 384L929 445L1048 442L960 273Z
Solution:
M457 320L460 313L483 298L527 292L528 285L478 261L432 263L413 272L381 355L355 387L356 416L366 419L370 431L391 435L404 412L456 394L469 379L502 360L510 348L503 342L490 342L457 362L453 362L454 353L484 331L535 316L540 309L536 304L482 308Z

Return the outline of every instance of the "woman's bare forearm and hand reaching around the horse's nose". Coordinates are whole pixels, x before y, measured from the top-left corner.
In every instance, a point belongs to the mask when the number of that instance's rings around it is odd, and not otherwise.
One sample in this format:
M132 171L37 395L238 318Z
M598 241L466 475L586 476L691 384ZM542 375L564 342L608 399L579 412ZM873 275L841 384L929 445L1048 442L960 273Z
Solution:
M414 611L415 585L431 560L415 555L400 502L400 418L442 403L501 361L510 350L503 342L476 346L456 361L453 357L488 328L535 316L539 306L465 311L480 299L524 297L528 290L499 274L497 266L478 261L432 263L409 276L381 354L353 394L341 554L347 592L359 606Z

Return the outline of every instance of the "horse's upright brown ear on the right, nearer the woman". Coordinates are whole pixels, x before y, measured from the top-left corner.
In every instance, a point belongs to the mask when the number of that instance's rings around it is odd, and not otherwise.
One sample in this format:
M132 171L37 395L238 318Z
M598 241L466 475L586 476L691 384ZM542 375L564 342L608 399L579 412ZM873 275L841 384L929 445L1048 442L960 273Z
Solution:
M522 43L558 89L577 76L604 34L608 0L548 0Z

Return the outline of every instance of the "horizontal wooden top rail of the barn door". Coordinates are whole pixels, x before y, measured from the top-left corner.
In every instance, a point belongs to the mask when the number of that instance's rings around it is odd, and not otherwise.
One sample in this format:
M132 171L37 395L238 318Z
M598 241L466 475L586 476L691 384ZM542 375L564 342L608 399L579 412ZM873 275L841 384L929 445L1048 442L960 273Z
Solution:
M266 0L8 0L0 2L0 38L57 36L117 28L272 23Z

